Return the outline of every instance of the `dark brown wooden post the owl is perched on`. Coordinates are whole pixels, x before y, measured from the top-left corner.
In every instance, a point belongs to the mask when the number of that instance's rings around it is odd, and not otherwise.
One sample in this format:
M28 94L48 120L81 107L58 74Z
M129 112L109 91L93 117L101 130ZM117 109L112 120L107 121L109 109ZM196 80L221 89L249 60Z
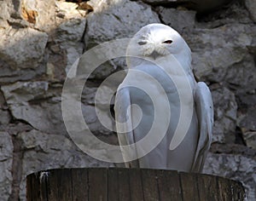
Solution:
M26 177L27 201L245 200L239 181L161 169L49 169Z

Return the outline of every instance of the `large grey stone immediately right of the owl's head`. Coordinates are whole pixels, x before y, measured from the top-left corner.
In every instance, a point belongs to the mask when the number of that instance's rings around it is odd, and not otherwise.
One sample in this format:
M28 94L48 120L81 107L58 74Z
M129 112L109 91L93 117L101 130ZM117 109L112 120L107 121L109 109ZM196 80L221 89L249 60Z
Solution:
M232 24L195 29L189 36L184 36L192 50L195 77L214 83L223 82L230 69L248 55L247 46L253 41L249 27ZM235 76L239 75L236 73Z

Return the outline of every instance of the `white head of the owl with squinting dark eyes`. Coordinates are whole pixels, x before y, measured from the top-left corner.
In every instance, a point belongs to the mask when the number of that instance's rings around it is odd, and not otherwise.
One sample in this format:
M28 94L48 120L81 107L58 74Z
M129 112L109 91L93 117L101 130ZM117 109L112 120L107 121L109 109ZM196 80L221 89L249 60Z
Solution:
M188 44L180 34L170 26L149 24L132 37L127 48L127 55L157 60L166 55L189 55Z

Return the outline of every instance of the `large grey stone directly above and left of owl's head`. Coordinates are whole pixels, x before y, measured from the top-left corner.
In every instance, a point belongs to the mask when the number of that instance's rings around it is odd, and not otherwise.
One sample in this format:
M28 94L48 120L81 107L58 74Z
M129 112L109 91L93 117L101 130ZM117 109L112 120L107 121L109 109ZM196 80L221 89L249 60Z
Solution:
M143 26L160 22L157 14L144 3L115 0L107 8L88 15L84 35L86 49L109 40L132 37Z

